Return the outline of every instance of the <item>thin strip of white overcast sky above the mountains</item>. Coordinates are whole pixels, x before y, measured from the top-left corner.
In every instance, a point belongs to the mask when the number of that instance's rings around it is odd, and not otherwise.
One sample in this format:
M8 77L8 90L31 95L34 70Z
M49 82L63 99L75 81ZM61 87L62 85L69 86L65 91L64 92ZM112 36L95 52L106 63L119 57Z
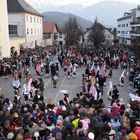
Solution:
M82 5L91 5L97 2L105 1L105 0L26 0L33 6L39 5L67 5L67 4L82 4ZM110 1L125 1L125 2L133 2L133 3L140 3L140 0L110 0Z

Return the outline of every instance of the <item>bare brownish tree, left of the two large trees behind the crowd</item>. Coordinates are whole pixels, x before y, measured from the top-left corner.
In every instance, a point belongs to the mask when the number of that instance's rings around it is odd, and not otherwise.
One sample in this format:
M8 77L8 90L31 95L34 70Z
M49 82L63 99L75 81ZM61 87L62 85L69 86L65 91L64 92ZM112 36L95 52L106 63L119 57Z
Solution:
M82 34L81 27L75 17L70 17L68 22L65 24L65 41L67 49L71 45L78 45L80 41L80 36Z

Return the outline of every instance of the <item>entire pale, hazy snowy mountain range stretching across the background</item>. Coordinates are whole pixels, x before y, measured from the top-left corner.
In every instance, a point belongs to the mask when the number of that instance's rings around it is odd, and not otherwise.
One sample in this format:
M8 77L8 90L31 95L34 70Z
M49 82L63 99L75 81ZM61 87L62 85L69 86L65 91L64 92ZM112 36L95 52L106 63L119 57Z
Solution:
M65 6L59 5L58 7L54 6L51 11L61 12L61 14L71 13L92 22L94 22L95 18L97 17L98 21L101 22L102 24L116 27L117 19L122 17L124 12L127 12L136 7L137 7L136 3L127 3L127 2L122 2L122 1L103 1L103 2L90 5L88 7L84 7L82 5L76 5L76 4L70 4L70 5L65 5ZM49 12L49 14L51 14L52 16L52 13ZM66 15L63 14L63 16L66 16ZM48 14L47 16L48 16L48 19L51 18ZM66 16L66 18L67 17L68 15ZM60 20L59 18L57 19L58 21Z

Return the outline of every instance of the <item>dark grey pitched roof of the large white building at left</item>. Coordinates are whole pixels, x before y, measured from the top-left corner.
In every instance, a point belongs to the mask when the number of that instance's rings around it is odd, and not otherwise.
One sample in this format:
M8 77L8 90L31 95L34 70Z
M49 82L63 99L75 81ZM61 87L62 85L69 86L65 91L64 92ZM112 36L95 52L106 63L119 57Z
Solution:
M24 0L7 0L7 8L8 12L27 12L37 16L42 16Z

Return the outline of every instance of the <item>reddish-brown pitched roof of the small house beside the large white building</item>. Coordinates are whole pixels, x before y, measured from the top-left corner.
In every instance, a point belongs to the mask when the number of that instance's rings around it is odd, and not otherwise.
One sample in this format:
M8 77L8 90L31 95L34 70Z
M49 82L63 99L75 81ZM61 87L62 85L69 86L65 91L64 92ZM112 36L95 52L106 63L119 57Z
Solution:
M43 24L43 33L53 33L55 28L57 29L57 25L55 23L45 22Z

